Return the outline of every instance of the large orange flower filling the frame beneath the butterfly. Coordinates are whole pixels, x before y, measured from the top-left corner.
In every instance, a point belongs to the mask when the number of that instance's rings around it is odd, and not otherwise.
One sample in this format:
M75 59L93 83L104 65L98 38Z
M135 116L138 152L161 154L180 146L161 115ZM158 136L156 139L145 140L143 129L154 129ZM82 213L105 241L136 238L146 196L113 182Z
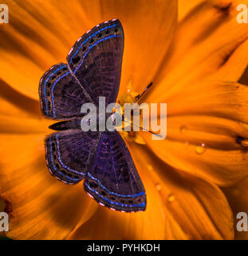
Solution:
M191 2L191 3L189 3ZM248 28L236 6L248 1L6 1L0 26L0 196L18 239L232 239L230 206L219 186L248 174L236 138L248 138ZM177 19L177 10L179 18ZM81 183L68 186L45 166L38 81L65 62L96 24L119 18L125 47L120 94L154 86L145 102L167 102L167 138L128 142L148 196L145 212L100 207ZM177 20L179 20L177 22Z

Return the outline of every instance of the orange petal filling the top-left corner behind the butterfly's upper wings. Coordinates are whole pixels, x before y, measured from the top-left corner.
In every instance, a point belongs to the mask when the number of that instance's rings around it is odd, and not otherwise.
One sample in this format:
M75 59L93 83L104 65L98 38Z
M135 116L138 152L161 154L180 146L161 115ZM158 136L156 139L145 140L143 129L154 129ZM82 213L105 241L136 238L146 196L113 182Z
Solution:
M81 19L77 26L73 22L77 14L82 14L80 3L6 1L6 4L10 23L1 26L0 76L22 94L37 99L41 75L49 66L65 62L72 46L69 38L75 38L75 29L79 29L79 24L82 26ZM72 8L77 14L70 12Z

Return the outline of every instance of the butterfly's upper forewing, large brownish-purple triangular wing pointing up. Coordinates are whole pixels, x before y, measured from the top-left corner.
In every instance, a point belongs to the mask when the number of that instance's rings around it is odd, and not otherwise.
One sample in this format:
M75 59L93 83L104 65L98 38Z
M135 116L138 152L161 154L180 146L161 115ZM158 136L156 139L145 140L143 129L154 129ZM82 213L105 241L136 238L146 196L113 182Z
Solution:
M124 32L117 19L89 30L70 50L69 68L95 103L100 96L106 105L116 102L123 50Z

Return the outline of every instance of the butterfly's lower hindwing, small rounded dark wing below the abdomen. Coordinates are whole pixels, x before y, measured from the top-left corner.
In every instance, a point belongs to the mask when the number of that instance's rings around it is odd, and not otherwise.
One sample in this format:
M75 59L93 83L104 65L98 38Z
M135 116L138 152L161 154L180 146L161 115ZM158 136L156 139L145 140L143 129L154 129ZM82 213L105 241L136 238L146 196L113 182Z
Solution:
M85 178L100 140L100 133L66 130L45 139L45 158L50 173L67 184Z

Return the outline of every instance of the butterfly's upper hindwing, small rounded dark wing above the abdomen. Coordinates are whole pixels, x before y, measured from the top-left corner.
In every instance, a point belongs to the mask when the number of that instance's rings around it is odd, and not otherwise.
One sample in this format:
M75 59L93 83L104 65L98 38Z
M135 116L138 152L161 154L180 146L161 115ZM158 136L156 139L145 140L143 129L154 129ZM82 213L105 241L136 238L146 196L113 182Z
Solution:
M81 106L92 102L64 63L52 66L41 78L39 86L41 111L54 119L81 114Z

